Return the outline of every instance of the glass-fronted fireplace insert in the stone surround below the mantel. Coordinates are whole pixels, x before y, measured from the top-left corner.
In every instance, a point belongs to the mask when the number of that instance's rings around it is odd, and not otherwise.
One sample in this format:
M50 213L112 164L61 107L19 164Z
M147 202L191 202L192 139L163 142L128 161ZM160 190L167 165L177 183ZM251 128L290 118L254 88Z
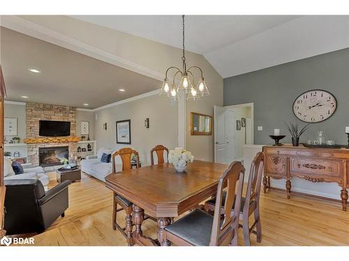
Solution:
M62 165L63 158L69 158L68 146L39 148L39 166Z

